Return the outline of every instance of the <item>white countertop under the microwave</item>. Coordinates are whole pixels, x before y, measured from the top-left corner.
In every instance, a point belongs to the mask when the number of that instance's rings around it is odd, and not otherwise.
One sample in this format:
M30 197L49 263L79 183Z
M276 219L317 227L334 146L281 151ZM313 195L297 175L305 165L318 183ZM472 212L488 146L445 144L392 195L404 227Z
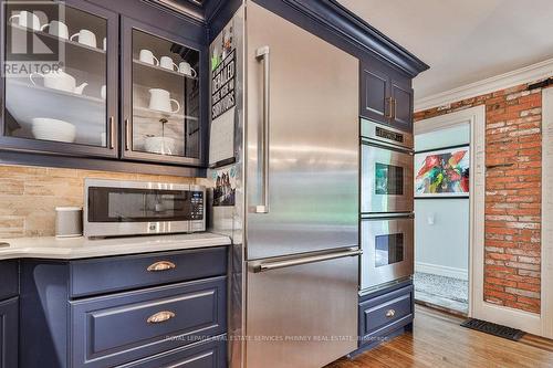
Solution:
M230 239L209 232L174 235L128 236L112 239L87 238L14 238L1 239L0 260L51 259L75 260L95 256L111 256L160 251L176 251L194 248L229 245Z

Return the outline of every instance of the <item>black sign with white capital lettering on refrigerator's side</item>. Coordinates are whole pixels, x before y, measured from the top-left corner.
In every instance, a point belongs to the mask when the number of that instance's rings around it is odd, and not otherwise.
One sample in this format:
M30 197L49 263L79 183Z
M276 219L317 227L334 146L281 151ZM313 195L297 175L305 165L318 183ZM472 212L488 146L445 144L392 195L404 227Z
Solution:
M236 105L236 50L211 73L211 118L216 119Z

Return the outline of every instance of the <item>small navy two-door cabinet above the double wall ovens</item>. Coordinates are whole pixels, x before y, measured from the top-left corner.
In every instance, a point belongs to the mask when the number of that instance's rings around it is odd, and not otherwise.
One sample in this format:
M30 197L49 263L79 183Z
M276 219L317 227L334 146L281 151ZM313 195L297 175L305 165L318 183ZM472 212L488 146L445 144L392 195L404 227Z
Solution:
M366 56L361 61L359 115L397 129L413 130L410 77Z

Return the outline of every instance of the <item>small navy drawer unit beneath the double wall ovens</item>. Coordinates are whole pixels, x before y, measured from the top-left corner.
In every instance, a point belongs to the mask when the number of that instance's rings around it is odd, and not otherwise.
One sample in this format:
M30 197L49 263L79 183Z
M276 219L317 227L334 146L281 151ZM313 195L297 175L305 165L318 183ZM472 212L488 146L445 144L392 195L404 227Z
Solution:
M410 282L359 297L359 350L411 329L414 314Z

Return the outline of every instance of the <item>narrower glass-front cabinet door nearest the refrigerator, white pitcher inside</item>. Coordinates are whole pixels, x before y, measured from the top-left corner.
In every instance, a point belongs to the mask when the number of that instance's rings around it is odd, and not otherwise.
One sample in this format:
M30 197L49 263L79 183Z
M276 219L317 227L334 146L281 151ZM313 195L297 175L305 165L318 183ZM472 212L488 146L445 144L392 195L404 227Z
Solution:
M200 48L123 19L123 156L200 164Z

